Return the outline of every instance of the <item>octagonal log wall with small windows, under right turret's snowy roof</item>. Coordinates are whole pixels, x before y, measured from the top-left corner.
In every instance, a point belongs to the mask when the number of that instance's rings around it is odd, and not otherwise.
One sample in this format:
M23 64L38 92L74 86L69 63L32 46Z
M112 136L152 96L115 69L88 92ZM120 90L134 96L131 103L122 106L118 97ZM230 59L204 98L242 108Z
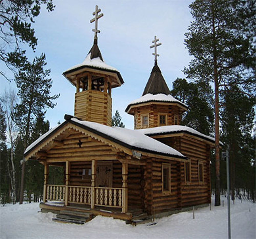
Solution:
M166 115L166 125L174 125L174 115L181 115L179 112L179 107L175 105L159 105L151 104L141 107L137 107L134 110L134 118L136 120L135 129L151 128L160 126L159 124L159 114ZM148 125L142 125L142 116L148 115ZM179 122L181 116L179 116Z

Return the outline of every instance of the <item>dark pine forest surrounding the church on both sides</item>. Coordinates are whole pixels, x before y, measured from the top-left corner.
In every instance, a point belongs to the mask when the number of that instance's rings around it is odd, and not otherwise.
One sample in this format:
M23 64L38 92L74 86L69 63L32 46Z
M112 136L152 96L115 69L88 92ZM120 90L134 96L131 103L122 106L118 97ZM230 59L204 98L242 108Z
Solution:
M0 0L0 6L0 60L13 72L18 89L17 93L7 90L0 98L0 200L2 204L22 203L24 196L29 202L39 201L44 169L37 161L22 163L23 152L49 130L46 110L55 107L59 95L50 93L52 80L50 70L45 69L45 54L29 62L22 46L36 49L37 38L30 23L41 7L51 12L55 6L51 0ZM193 22L185 33L185 45L194 58L184 68L187 79L177 78L171 90L189 108L181 124L216 137L218 120L222 151L228 148L230 154L232 199L243 195L255 200L255 1L197 0L189 7ZM4 72L0 75L10 80ZM118 111L112 124L124 127ZM220 164L218 187L225 194L226 162L216 161L213 150L213 192L216 162ZM50 167L49 183L63 184L63 180L62 168Z

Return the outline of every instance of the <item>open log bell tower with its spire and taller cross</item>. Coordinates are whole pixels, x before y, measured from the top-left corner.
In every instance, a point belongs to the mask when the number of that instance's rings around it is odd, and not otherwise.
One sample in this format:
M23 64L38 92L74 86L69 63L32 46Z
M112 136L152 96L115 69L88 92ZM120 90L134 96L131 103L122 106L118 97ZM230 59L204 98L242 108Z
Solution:
M67 69L63 75L76 86L74 116L111 126L111 90L121 86L124 81L117 69L104 62L98 47L98 19L103 17L100 12L96 5L94 18L90 20L91 23L95 22L91 50L82 63Z

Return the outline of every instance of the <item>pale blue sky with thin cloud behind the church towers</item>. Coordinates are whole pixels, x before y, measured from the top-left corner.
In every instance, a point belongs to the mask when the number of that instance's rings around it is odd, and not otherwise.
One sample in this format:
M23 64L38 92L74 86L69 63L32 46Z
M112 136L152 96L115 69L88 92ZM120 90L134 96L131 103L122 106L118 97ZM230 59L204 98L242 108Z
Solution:
M42 52L46 54L47 66L51 69L51 94L60 93L54 109L48 109L46 119L50 126L64 121L64 115L74 113L72 86L62 73L69 67L81 63L93 44L94 23L92 12L95 5L104 16L99 20L98 46L106 64L118 69L124 85L112 91L112 115L118 110L126 128L133 129L133 116L124 112L132 100L140 98L154 65L152 40L159 42L158 65L169 88L177 78L184 78L184 66L189 56L184 45L184 33L192 21L187 0L169 1L116 1L116 0L53 0L56 8L48 13L44 7L33 24L38 45L36 53L27 49L32 60ZM1 69L4 68L0 63ZM12 74L6 69L10 78ZM0 76L0 94L5 89L16 89Z

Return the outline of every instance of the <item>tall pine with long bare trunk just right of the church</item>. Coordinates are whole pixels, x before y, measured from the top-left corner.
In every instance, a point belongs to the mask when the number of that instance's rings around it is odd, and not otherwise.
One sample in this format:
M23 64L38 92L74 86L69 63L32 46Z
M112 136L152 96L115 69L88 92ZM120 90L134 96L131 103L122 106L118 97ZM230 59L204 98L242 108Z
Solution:
M215 206L220 205L219 91L240 85L253 92L255 83L254 0L196 0L190 4L193 22L185 45L194 59L184 72L188 78L213 82L215 87ZM255 93L255 92L254 92Z

